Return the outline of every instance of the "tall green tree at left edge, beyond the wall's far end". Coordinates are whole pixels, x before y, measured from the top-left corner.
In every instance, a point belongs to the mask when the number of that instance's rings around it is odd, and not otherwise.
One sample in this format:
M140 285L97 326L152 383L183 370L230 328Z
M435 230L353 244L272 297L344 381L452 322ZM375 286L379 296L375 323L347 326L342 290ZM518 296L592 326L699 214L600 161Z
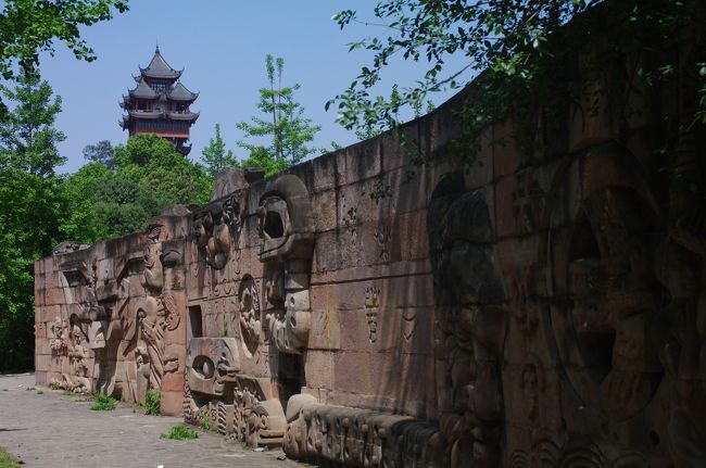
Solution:
M36 74L23 74L0 119L0 369L31 368L34 261L62 239L64 199L54 168L64 162L54 128L61 99Z

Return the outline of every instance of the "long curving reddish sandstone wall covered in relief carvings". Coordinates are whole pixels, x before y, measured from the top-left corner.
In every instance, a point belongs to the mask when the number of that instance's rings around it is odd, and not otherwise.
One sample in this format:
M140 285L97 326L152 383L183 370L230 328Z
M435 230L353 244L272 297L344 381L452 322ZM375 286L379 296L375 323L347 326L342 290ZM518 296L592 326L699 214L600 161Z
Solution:
M690 83L537 110L529 147L496 123L471 166L459 94L405 127L433 163L382 136L230 169L206 206L36 263L37 381L156 389L332 466L706 466L706 134L668 124Z

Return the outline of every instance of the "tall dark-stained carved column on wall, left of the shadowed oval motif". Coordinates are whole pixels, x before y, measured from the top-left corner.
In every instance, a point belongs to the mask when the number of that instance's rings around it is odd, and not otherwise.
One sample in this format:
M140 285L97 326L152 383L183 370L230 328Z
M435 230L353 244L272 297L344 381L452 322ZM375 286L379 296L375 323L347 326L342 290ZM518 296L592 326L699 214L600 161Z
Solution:
M501 463L500 363L505 287L482 191L459 174L434 190L427 214L434 279L439 425L452 467Z

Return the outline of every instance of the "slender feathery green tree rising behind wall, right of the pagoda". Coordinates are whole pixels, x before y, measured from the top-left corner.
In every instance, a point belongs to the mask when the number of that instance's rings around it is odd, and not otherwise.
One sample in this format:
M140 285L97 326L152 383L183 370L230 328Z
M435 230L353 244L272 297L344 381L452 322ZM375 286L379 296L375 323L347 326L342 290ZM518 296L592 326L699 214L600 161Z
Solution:
M242 165L264 167L269 176L315 153L316 149L308 144L322 127L312 125L312 121L304 117L302 104L294 100L294 92L301 85L282 87L285 61L267 54L265 64L268 87L260 89L257 109L266 117L253 117L236 126L248 139L270 138L267 144L238 141L238 146L250 153Z

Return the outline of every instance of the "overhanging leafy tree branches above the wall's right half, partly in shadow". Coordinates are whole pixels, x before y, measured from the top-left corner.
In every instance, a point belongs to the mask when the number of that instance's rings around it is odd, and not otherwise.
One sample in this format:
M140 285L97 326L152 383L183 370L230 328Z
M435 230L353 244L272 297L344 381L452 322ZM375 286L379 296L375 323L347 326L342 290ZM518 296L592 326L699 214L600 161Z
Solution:
M607 14L587 14L598 8L607 9ZM564 92L562 86L569 81L553 74L557 59L576 53L587 41L596 41L610 30L613 47L593 64L593 72L605 72L606 64L622 51L663 50L685 24L706 21L706 4L699 0L381 0L371 13L370 20L361 18L353 10L333 15L341 28L358 23L382 33L350 45L351 51L366 50L373 58L326 107L336 104L337 121L348 129L377 132L395 128L401 110L408 112L430 93L459 88L480 75L483 79L472 87L475 92L463 115L472 129L502 118L508 110L521 112L530 104L551 102L552 94ZM564 27L579 17L579 24ZM449 66L452 55L463 58L461 65ZM377 96L393 60L425 66L396 100ZM673 63L663 60L646 61L641 74L664 75L675 69L679 59L675 55ZM695 117L706 122L704 62L696 60L689 73L701 74L702 111Z

